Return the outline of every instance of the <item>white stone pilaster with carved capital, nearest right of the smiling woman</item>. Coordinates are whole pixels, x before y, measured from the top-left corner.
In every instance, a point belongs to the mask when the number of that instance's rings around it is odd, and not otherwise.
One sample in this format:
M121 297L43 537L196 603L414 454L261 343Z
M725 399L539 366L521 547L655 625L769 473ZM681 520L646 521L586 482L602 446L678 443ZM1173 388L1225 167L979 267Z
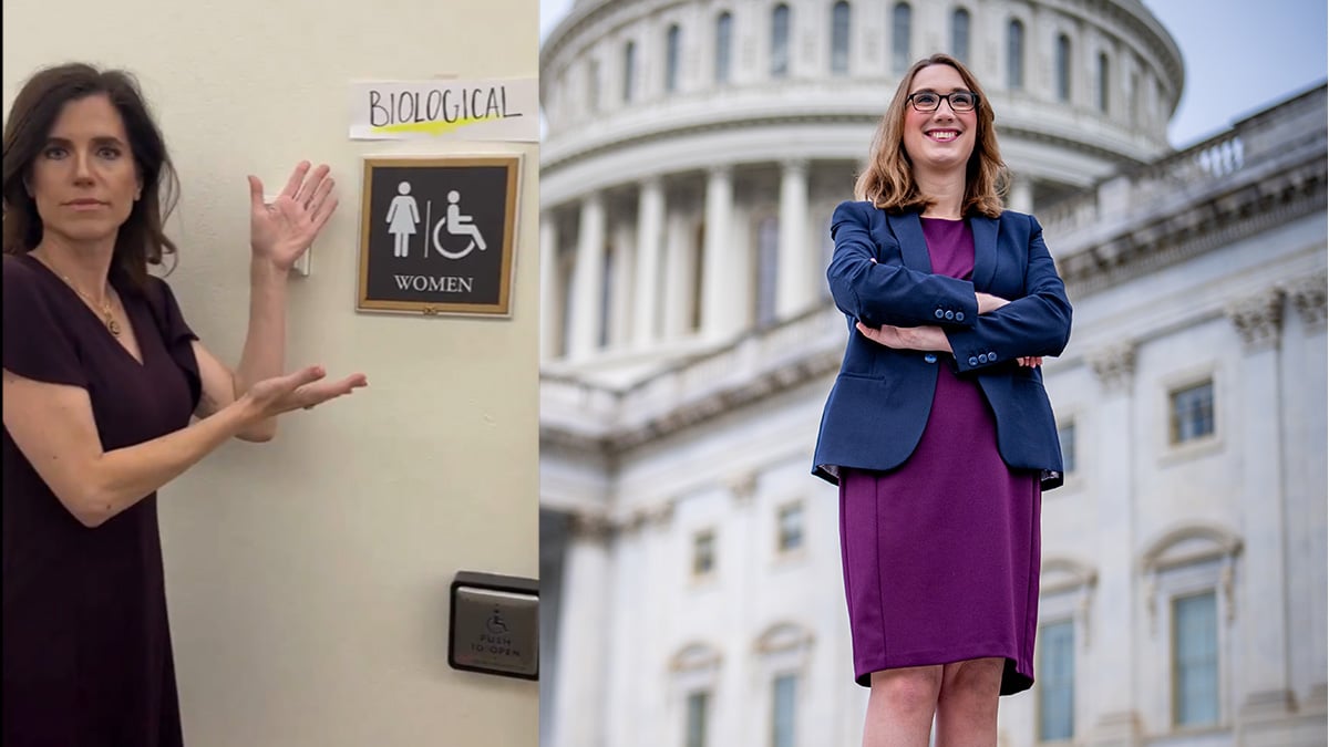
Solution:
M1086 682L1091 691L1082 702L1092 703L1088 723L1090 747L1138 747L1142 724L1135 702L1134 669L1136 661L1134 635L1138 598L1132 564L1135 550L1135 492L1131 476L1135 465L1131 444L1135 424L1131 417L1135 380L1135 344L1124 342L1090 352L1090 367L1102 391L1095 411L1094 517L1098 526L1099 553L1118 561L1104 568L1096 589L1096 607L1102 618L1094 626L1094 654Z

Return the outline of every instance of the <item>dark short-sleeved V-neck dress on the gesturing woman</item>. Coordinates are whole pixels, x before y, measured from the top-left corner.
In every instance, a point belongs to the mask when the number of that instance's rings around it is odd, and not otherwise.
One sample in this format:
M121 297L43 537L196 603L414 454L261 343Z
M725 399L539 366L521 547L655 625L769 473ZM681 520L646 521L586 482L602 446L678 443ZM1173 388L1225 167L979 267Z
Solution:
M113 283L142 364L44 265L4 257L4 368L88 389L108 452L186 427L199 396L166 283ZM8 428L3 449L4 747L179 747L155 494L88 529Z

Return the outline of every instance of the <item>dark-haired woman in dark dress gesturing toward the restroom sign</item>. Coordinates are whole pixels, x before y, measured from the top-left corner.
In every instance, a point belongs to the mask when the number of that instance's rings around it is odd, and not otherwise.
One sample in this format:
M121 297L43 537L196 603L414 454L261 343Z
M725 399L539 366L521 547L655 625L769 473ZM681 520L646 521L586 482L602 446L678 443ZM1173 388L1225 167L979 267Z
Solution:
M250 319L233 371L149 274L175 175L134 80L69 64L4 132L3 744L182 744L157 489L231 437L348 395L284 374L286 279L336 209L328 169L271 206L250 177ZM191 424L191 419L197 421Z

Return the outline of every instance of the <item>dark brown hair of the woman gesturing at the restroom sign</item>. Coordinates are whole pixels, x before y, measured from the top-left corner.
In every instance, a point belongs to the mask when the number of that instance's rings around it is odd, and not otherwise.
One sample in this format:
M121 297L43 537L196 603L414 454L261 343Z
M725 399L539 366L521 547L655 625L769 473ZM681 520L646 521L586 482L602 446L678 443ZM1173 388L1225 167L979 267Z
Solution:
M4 253L27 254L41 243L41 215L27 187L32 165L45 149L65 104L97 94L106 96L125 121L129 149L144 185L116 237L112 271L144 288L148 266L161 265L165 255L175 254L175 245L166 238L162 226L179 198L179 181L138 81L125 70L98 70L82 62L56 65L28 78L15 97L4 128L0 179Z

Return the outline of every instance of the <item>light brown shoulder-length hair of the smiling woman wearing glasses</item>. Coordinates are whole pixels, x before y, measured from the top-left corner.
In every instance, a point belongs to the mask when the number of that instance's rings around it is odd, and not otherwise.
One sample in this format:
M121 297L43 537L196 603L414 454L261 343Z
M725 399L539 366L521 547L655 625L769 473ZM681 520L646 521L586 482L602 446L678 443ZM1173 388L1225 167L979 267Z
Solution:
M888 213L922 211L932 205L928 195L918 190L913 162L909 161L904 146L909 88L913 86L918 70L932 65L950 65L960 73L965 86L978 94L978 106L974 109L978 114L978 132L974 136L974 152L965 169L965 202L961 205L961 214L997 218L1002 211L1001 195L1006 189L1007 174L1006 163L1002 162L997 148L993 109L982 86L978 85L978 78L950 54L933 54L918 60L900 80L896 96L890 100L890 106L886 108L872 138L868 169L859 174L859 181L853 185L855 198L867 199Z

